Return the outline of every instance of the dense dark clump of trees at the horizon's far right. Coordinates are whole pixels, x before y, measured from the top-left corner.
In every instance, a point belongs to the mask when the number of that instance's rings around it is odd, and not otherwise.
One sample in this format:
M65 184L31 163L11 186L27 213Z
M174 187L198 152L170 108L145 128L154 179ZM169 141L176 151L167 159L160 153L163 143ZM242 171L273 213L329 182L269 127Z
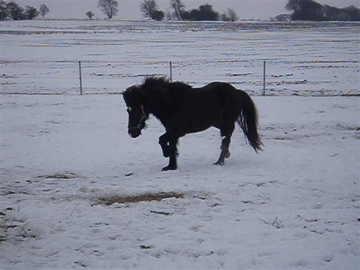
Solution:
M360 9L354 5L338 8L315 0L288 0L285 8L293 11L292 20L360 21Z

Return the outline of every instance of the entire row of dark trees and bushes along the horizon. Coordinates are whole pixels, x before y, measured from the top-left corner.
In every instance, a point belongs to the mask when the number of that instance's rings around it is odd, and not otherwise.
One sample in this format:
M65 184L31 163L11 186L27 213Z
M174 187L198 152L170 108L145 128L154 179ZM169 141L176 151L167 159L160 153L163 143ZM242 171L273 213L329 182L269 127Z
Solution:
M116 16L119 11L118 0L98 0L97 7L109 19ZM166 12L159 10L156 0L143 0L140 3L140 11L144 17L161 21L167 20L186 20L186 21L237 21L237 16L233 8L227 8L223 13L213 9L211 4L205 3L198 8L185 9L181 0L170 0L170 7ZM292 20L308 21L360 21L360 9L354 5L338 8L327 4L320 4L315 0L288 0L285 8L293 11L290 14ZM39 15L43 18L49 12L49 8L42 4L39 10L33 6L26 5L25 8L19 6L15 1L5 2L0 0L0 20L32 20ZM87 11L86 16L92 19L94 13ZM288 15L281 14L276 17L286 19Z

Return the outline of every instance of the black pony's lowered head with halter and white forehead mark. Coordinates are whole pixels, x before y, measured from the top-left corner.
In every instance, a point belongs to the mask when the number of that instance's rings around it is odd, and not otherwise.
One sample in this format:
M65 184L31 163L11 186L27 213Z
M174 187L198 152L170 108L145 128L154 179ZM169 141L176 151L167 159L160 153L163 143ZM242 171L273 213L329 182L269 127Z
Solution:
M141 135L141 130L146 127L145 121L149 118L149 113L144 108L141 87L128 87L122 94L129 114L128 134L136 138Z

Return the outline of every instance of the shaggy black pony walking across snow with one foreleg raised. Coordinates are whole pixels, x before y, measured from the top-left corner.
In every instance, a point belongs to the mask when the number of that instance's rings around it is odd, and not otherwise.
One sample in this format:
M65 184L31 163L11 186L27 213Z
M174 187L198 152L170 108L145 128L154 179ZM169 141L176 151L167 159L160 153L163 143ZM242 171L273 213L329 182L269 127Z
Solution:
M210 127L220 129L223 138L220 157L214 165L224 165L224 159L230 156L228 149L235 121L256 152L263 145L253 100L246 92L227 83L214 82L192 88L180 82L170 83L166 77L146 77L141 85L131 86L122 93L131 137L141 135L150 113L165 127L159 144L164 157L169 157L169 165L162 171L177 169L177 144L181 136Z

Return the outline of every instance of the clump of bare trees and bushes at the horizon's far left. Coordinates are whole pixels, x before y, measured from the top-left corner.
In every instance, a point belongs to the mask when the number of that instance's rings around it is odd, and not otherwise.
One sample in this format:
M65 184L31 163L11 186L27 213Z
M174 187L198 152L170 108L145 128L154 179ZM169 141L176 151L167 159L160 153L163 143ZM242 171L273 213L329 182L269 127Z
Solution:
M45 4L40 5L40 9L36 9L33 6L25 5L25 8L19 6L16 2L5 2L0 0L0 20L32 20L39 15L45 17L49 12L48 7Z

